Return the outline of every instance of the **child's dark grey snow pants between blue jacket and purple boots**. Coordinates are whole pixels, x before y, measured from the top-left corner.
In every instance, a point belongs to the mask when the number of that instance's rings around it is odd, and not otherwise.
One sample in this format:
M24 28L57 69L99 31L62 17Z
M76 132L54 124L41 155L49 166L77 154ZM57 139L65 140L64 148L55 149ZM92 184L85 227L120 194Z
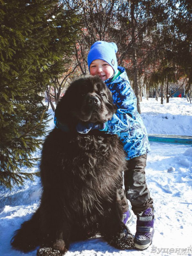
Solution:
M127 169L124 172L125 190L120 188L117 191L117 198L121 200L124 213L129 209L128 200L135 215L153 206L145 179L146 160L147 154L127 161Z

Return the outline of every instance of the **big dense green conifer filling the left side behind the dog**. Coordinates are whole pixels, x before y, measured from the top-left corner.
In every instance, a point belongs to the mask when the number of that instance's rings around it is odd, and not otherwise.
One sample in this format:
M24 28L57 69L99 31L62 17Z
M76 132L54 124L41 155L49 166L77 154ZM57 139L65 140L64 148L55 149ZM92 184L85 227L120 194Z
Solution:
M0 0L0 184L11 188L34 173L48 121L41 92L64 70L79 17L54 0Z

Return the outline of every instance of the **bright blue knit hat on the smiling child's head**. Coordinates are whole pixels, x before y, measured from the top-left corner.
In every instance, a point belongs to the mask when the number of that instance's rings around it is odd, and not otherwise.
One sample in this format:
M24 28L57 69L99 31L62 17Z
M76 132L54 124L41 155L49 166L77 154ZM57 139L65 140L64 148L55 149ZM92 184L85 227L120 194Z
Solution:
M117 70L117 45L115 43L108 43L104 41L97 41L92 46L87 56L88 67L90 71L90 65L93 60L104 60L114 69Z

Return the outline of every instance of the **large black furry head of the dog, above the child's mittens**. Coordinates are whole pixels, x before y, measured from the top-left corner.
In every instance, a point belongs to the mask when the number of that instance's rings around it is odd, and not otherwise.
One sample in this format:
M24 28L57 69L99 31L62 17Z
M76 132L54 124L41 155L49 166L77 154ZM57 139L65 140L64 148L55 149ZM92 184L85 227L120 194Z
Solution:
M85 76L71 83L55 115L61 124L70 123L70 120L104 123L115 111L112 94L99 76Z

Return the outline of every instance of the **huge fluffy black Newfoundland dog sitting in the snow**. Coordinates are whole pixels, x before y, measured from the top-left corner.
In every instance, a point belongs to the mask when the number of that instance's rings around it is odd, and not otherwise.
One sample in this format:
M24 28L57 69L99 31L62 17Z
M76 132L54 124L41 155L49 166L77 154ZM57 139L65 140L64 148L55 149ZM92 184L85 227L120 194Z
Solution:
M117 135L76 131L79 122L104 123L115 113L112 95L98 76L71 83L55 110L62 129L54 128L42 150L41 204L21 225L12 246L37 255L62 255L72 241L100 234L119 249L133 248L117 200L125 155Z

